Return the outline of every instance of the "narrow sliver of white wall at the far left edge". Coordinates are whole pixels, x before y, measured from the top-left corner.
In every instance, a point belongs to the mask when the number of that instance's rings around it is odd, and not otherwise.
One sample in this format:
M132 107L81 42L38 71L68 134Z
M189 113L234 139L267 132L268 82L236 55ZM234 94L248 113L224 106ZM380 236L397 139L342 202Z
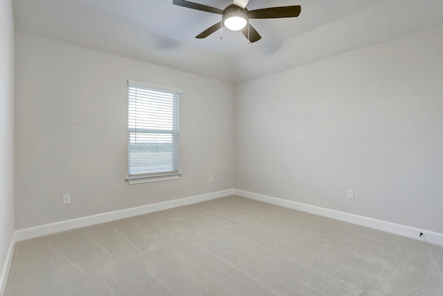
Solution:
M0 0L0 65L1 288L1 272L14 232L14 23L10 0Z

